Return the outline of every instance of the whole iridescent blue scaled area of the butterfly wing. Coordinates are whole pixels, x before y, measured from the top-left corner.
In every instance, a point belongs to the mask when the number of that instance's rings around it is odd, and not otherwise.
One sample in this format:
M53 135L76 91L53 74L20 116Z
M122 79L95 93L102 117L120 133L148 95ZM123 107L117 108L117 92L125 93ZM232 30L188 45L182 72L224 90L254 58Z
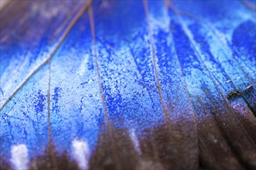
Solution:
M138 138L145 138L146 130L166 123L161 97L171 122L174 126L182 124L181 134L189 140L197 141L196 124L216 127L214 118L218 117L220 131L229 122L232 124L230 117L236 117L233 110L239 110L237 117L243 115L255 124L247 106L249 103L255 108L254 89L244 97L247 100L228 99L229 93L236 90L243 92L251 85L255 88L255 13L239 1L174 2L172 5L181 12L167 8L164 1L149 1L148 5L150 26L143 2L94 2L98 60L85 12L50 59L50 66L40 68L0 111L2 158L9 160L13 145L25 144L30 158L42 154L49 145L49 75L50 128L59 152L71 152L71 142L78 139L88 142L91 154L99 135L106 131L99 79L109 124L133 131ZM43 24L50 25L54 17ZM30 48L25 45L32 39L23 42L20 37L17 42L5 42L8 29L1 35L1 105L26 75L47 59L61 37L49 43L53 31L46 27ZM154 39L152 46L150 35ZM95 62L99 63L100 77ZM217 113L213 113L216 108ZM209 133L221 133L215 130Z

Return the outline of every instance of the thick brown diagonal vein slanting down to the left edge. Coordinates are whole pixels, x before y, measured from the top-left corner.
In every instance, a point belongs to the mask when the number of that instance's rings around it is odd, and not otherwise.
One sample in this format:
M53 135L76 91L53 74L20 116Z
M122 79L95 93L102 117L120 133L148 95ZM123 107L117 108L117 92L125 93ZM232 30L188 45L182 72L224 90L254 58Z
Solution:
M80 11L78 12L77 15L74 16L74 19L71 21L71 23L67 26L67 29L64 30L63 35L61 36L60 40L57 42L57 45L54 47L54 50L49 54L49 56L47 56L46 59L44 59L43 63L40 63L39 66L36 66L36 68L29 73L28 76L26 76L26 78L24 80L22 80L22 83L19 84L19 86L16 88L16 90L14 90L11 95L8 97L7 100L5 100L5 102L2 104L2 106L0 107L0 110L2 110L3 107L5 107L6 104L8 104L9 100L12 99L12 97L24 86L24 84L38 71L40 70L40 68L42 68L42 66L44 66L45 64L48 63L48 61L54 56L54 54L57 52L57 49L59 49L59 47L61 46L62 42L64 42L64 39L66 39L68 33L71 31L71 29L73 28L74 24L76 22L78 22L78 19L81 18L81 15L83 15L83 13L85 13L85 11L88 9L88 7L91 5L92 0L88 0L88 2L85 4L85 6L83 8L80 9Z

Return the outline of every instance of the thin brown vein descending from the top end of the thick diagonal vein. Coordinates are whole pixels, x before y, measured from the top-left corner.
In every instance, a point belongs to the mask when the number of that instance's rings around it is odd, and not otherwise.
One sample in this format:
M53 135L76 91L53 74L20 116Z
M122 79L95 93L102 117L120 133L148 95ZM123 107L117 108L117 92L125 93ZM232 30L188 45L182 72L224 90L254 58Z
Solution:
M96 69L97 69L97 76L98 76L98 80L99 80L99 90L100 90L100 94L102 97L102 106L103 106L103 111L104 111L104 117L105 117L105 121L106 121L106 126L107 126L107 131L108 131L108 137L109 137L109 142L110 142L110 148L112 151L112 156L113 156L113 161L116 163L116 169L120 170L122 169L117 155L115 153L115 149L114 149L114 140L113 140L113 136L112 136L112 131L111 131L111 127L109 124L109 117L108 117L108 113L106 110L106 100L104 97L104 93L102 90L102 80L101 80L101 75L100 75L100 71L99 71L99 62L98 62L98 53L97 53L97 49L96 49L96 44L95 44L95 22L94 22L94 17L93 17L93 11L92 11L92 6L90 8L88 8L88 15L89 15L89 21L90 21L90 26L91 26L91 32L92 32L92 48L93 48L93 56L94 56L94 60L95 60L95 65L96 65Z

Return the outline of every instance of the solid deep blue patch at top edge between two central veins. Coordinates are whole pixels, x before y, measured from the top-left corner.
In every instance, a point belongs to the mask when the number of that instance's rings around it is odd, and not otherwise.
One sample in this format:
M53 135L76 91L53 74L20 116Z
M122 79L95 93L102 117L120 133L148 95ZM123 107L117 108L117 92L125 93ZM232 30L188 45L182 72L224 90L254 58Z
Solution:
M109 8L107 11L99 8L99 3L102 0L94 2L94 15L95 15L95 25L99 27L104 27L104 32L107 34L102 35L99 39L104 39L105 42L109 42L115 45L116 48L121 46L117 41L118 39L106 39L108 36L119 37L119 39L124 39L127 42L132 42L133 37L130 36L131 33L137 32L137 28L141 26L141 23L145 19L144 7L142 1L108 1ZM119 21L119 22L116 22ZM96 29L96 36L98 32L102 29ZM117 43L115 43L117 42Z

